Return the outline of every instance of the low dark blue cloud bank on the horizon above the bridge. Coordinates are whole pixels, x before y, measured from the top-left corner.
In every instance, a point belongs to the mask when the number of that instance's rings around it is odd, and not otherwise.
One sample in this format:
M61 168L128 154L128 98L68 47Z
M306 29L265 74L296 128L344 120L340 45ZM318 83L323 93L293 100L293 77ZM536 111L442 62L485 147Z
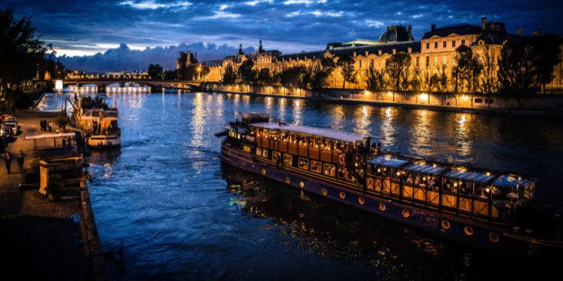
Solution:
M133 49L127 44L120 44L117 48L109 48L103 53L82 56L59 56L61 63L68 69L80 69L87 72L110 72L114 70L146 70L149 64L160 64L167 70L176 68L179 52L191 51L197 53L199 61L219 60L227 55L234 55L238 48L226 44L179 44L167 47L146 47L141 50ZM254 47L243 48L245 53L255 51Z

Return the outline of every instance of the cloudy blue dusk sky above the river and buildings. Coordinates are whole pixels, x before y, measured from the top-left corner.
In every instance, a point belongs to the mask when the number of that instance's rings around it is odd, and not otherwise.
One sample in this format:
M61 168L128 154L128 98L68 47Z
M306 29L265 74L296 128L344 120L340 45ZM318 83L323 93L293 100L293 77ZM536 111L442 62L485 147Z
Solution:
M88 55L63 63L89 71L113 70L120 63L172 68L178 51L219 59L232 55L239 43L252 51L260 38L264 48L282 53L318 50L331 41L377 40L388 25L412 25L419 40L432 23L480 25L483 16L505 22L510 33L519 27L523 34L563 33L563 1L545 0L2 0L0 6L14 8L16 18L32 16L37 34L59 57Z

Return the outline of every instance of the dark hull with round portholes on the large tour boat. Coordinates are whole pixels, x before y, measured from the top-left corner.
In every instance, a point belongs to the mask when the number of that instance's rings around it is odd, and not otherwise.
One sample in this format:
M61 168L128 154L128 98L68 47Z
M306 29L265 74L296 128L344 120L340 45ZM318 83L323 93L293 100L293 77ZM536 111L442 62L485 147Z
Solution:
M366 192L327 183L320 178L291 171L290 167L277 167L255 161L249 152L229 148L225 143L221 146L220 157L224 163L254 174L477 247L545 259L559 256L563 251L562 244L533 239L526 235L525 230L514 231L512 228L488 226L486 223L457 218L438 210L422 209L398 200L376 197Z

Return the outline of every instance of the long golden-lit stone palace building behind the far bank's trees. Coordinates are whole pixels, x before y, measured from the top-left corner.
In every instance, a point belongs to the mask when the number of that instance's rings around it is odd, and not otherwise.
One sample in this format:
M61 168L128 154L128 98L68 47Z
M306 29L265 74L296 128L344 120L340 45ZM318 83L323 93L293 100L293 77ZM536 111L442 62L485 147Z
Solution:
M253 53L243 53L242 46L236 55L230 55L222 60L202 62L201 65L210 67L210 72L205 81L221 81L222 70L231 64L235 67L244 60L253 60L255 67L261 69L267 67L271 72L276 72L294 65L310 65L315 60L324 57L339 59L339 55L346 53L355 60L356 83L346 83L346 88L363 89L366 86L365 76L370 66L377 70L385 67L386 60L394 53L409 53L412 58L411 70L418 68L422 76L430 77L431 74L444 71L450 73L455 66L455 49L466 45L479 55L481 60L485 53L495 61L500 54L502 44L508 39L520 36L519 30L516 34L510 34L505 30L502 22L487 22L481 18L481 25L469 25L467 23L436 27L431 25L428 32L420 41L412 38L412 27L393 25L386 28L377 41L356 39L347 43L331 42L327 48L319 51L303 51L301 53L282 54L279 51L265 51L260 40L258 50ZM190 60L191 53L180 52L178 64L197 63L196 57ZM562 87L562 63L555 69L555 79L548 88ZM343 84L340 70L336 69L327 81L327 88L339 88Z

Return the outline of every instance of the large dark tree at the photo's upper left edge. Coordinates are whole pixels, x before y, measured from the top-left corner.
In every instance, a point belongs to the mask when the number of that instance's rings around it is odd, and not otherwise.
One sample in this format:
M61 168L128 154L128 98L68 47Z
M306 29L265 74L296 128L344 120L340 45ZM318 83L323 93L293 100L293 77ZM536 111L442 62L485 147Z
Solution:
M15 20L11 8L0 8L0 91L20 89L37 73L46 49L34 37L31 19Z

